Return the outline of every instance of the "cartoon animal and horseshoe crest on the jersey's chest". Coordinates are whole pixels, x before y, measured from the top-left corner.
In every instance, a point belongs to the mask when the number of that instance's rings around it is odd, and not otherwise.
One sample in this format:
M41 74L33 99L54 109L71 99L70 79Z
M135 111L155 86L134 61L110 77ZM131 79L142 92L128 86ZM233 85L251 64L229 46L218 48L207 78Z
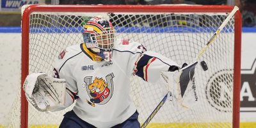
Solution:
M113 72L106 76L106 81L102 77L92 76L84 77L86 92L90 97L90 101L86 100L88 104L95 107L95 104L106 104L112 97L114 91Z

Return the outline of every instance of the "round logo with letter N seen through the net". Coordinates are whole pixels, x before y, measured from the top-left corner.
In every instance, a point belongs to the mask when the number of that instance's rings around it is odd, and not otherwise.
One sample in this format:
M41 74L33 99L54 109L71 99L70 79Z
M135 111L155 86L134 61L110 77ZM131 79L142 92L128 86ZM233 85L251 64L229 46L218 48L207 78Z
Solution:
M218 111L232 111L233 70L220 70L213 74L205 88L207 101Z

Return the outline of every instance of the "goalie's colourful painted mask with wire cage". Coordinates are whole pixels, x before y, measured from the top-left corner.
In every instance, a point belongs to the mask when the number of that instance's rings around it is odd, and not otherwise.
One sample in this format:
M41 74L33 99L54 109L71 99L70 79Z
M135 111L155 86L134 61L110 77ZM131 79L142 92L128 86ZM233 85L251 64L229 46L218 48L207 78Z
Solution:
M97 53L102 60L109 60L107 58L111 57L106 56L106 54L113 49L115 35L116 31L111 22L100 16L93 17L84 25L84 44L87 48Z

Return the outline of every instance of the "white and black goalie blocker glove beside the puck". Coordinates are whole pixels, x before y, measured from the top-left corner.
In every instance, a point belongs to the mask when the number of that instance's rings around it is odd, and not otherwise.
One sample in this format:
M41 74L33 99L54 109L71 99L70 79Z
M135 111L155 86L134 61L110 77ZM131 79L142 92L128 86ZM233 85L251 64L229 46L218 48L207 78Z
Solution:
M182 65L180 70L162 72L162 80L166 82L172 97L169 99L177 104L177 108L191 108L198 102L195 85L195 70L198 61L190 65Z

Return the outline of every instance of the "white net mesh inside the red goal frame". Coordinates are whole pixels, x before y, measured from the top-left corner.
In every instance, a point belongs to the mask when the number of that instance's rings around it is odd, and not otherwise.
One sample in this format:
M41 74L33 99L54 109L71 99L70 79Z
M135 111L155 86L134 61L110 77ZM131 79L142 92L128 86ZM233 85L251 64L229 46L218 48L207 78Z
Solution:
M97 15L99 13L90 13ZM37 13L29 16L29 74L52 73L52 64L60 51L83 43L84 13ZM196 55L227 17L226 13L104 13L115 26L118 38L129 38L182 65L195 61ZM89 19L89 18L88 18ZM234 76L234 18L207 49L201 60L209 70L196 68L196 86L200 102L189 109L177 109L166 101L148 127L232 127ZM167 93L161 84L150 84L132 77L132 97L145 122ZM18 105L17 105L18 104ZM19 127L19 98L12 111ZM56 116L40 113L29 106L29 127L58 127L65 111ZM22 118L22 117L21 117ZM11 126L10 126L11 125Z

